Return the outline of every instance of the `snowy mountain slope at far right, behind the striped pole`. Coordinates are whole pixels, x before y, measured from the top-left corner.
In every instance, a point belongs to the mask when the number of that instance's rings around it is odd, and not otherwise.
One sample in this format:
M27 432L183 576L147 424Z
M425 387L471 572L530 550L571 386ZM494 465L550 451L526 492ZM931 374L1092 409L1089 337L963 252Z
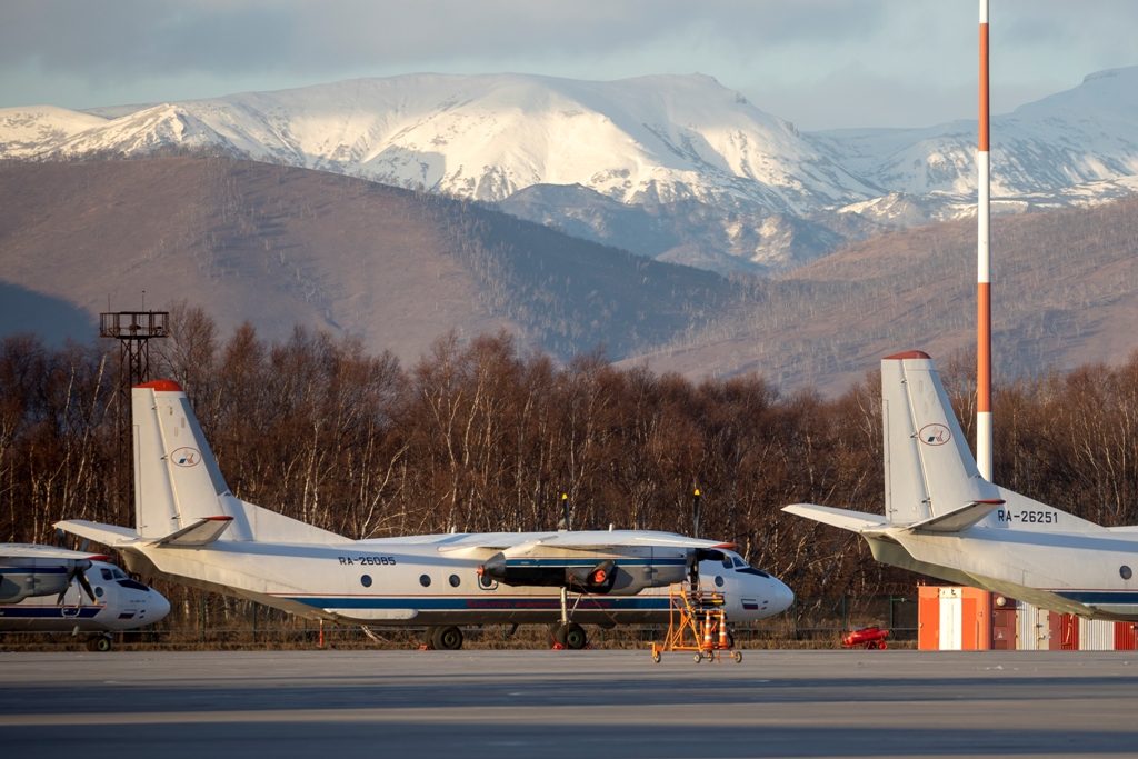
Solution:
M976 123L805 135L834 163L893 192L976 189ZM1065 92L991 121L992 196L1013 197L1138 174L1138 66L1088 75Z

